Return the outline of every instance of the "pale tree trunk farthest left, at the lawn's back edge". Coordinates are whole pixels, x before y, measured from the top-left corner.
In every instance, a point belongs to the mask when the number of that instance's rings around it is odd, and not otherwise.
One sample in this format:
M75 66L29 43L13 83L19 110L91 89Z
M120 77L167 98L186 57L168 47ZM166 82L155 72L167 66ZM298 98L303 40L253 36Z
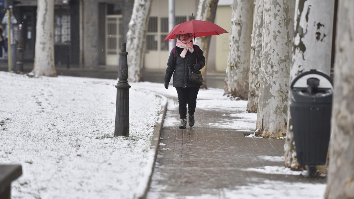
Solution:
M54 1L38 0L36 44L34 55L35 76L57 76L54 64Z

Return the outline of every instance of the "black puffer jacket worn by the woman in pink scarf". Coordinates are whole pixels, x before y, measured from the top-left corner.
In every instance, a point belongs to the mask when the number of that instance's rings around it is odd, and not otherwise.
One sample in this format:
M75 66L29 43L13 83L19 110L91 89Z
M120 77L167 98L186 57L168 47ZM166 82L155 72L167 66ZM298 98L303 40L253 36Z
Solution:
M197 84L189 80L189 69L188 65L193 68L195 64L195 59L198 60L197 67L202 69L205 66L205 57L203 56L203 51L197 45L193 45L194 51L191 53L187 51L185 58L182 58L180 54L182 53L182 48L176 46L175 55L173 55L173 49L170 53L169 61L167 62L167 69L164 81L170 82L173 73L173 87L198 87L202 83ZM185 59L185 60L184 60ZM185 62L187 61L187 63Z

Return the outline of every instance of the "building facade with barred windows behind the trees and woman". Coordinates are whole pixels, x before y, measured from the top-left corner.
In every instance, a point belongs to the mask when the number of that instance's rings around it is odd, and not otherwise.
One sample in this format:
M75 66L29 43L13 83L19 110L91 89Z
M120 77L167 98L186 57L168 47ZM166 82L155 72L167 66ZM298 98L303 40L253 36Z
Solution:
M1 0L0 0L1 1ZM196 15L198 0L177 0L175 22L183 23ZM220 0L216 23L230 30L231 8ZM223 3L224 2L224 3ZM126 41L134 0L55 0L55 64L57 68L118 70L120 43ZM22 36L24 62L34 60L37 0L21 0L13 7L18 23L13 24L13 38ZM0 11L0 19L4 17ZM5 25L5 24L4 24ZM168 1L153 0L146 35L144 70L166 69L169 41L163 42L168 30ZM225 72L229 35L212 36L208 56L211 71ZM132 53L132 52L131 52Z

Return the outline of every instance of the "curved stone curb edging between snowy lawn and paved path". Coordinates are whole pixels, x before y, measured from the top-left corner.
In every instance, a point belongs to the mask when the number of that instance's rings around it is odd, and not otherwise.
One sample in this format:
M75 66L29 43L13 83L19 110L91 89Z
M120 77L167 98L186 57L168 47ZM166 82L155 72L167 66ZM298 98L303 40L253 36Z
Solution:
M156 157L157 157L157 153L158 153L158 149L159 149L162 125L164 124L166 110L167 110L167 98L165 96L158 95L156 93L155 93L155 95L162 99L162 102L161 102L162 106L161 106L158 120L155 125L155 130L154 130L154 134L153 134L153 141L151 143L150 150L148 152L149 153L148 154L148 163L147 163L147 166L145 166L146 171L144 172L142 183L137 188L137 192L135 194L135 198L138 198L138 199L145 199L146 195L149 191L149 188L150 188L151 178L152 178L152 175L154 172Z

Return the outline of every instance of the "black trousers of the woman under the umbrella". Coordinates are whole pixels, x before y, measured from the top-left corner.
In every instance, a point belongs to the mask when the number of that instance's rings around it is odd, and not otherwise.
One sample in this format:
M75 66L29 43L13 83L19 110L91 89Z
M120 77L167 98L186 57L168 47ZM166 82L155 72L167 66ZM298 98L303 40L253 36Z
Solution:
M187 88L176 87L178 95L178 112L181 119L187 118L187 103L188 114L194 115L199 88L200 86Z

